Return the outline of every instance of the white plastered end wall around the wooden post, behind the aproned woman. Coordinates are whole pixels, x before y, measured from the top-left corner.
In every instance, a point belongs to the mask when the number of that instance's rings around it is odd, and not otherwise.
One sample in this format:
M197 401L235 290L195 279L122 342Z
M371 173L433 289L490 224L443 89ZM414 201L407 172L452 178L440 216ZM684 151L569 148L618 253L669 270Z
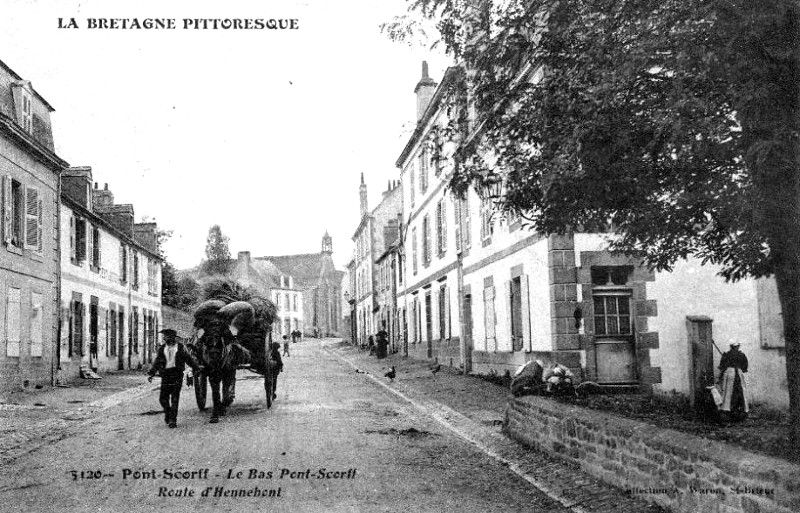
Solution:
M600 251L606 237L596 234L575 236L576 260L580 251ZM719 268L701 265L697 259L682 260L672 272L658 272L648 282L647 299L655 299L658 315L648 317L648 331L658 332L659 348L650 350L651 365L661 367L661 392L689 392L689 340L687 316L713 320L712 337L723 352L730 341L741 344L749 363L749 398L777 407L788 406L786 358L783 352L762 346L782 346L780 305L774 279L726 282ZM761 315L759 315L759 311ZM714 350L715 375L720 354Z

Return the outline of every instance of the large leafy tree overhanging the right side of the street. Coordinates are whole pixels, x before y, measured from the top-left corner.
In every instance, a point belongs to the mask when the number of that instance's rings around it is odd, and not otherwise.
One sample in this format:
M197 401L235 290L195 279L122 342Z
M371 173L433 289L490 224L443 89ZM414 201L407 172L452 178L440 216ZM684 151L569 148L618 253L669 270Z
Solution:
M533 229L612 226L613 249L659 270L693 255L730 280L774 275L800 456L798 1L494 4L409 0L477 113L449 127L451 186L502 181L497 205Z

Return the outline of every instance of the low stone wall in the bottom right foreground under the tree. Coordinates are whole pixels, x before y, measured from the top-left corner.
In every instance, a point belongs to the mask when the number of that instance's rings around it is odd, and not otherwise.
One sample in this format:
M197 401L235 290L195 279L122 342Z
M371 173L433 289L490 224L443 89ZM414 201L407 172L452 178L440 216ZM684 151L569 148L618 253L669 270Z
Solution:
M800 511L800 466L541 397L512 399L515 440L676 512Z

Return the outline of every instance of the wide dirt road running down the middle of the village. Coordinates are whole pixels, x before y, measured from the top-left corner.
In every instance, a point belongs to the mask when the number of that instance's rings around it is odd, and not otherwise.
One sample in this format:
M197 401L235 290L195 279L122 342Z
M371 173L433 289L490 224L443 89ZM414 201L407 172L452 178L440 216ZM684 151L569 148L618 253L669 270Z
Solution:
M184 388L168 429L145 384L6 465L0 509L569 511L319 341L291 350L271 410L240 371L219 424Z

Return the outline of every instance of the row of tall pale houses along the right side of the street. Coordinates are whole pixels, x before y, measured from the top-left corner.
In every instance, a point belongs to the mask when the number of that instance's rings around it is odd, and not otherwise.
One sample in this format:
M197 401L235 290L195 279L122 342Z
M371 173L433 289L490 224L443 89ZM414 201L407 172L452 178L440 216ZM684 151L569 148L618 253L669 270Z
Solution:
M726 283L691 258L653 272L608 251L605 234L545 236L498 213L502 184L451 193L455 146L439 134L460 115L449 101L460 72L437 84L423 63L399 180L372 210L362 175L344 285L354 341L385 329L392 350L465 372L502 375L539 359L584 380L690 398L738 342L751 399L786 406L774 279Z

